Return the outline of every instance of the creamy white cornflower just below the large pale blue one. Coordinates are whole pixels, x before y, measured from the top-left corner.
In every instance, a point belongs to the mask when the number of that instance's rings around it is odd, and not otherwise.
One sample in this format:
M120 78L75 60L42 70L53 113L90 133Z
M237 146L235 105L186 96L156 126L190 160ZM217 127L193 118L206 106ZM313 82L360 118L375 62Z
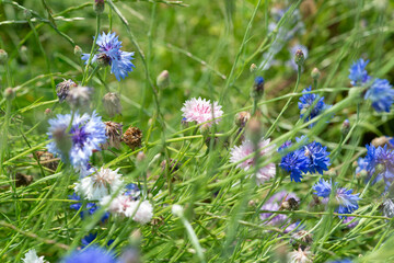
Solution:
M90 176L83 178L76 184L76 192L89 201L99 201L111 193L115 193L123 184L121 174L109 168L102 167Z

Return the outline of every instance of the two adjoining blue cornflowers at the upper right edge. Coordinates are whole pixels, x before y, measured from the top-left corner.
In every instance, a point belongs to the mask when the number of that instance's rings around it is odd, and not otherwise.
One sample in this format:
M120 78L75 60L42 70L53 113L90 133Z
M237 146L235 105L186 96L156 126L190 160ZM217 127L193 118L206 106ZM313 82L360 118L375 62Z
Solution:
M352 85L370 84L364 94L364 100L371 101L372 107L376 112L390 112L390 107L394 102L394 89L385 79L374 79L370 83L372 77L366 70L368 62L369 60L364 61L360 58L352 64L349 69L350 83Z

